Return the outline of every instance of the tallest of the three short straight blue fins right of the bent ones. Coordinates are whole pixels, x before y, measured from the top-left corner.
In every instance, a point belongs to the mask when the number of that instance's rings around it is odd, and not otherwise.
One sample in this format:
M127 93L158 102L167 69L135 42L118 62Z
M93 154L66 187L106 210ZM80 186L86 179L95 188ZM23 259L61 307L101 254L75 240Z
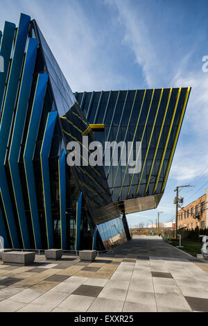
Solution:
M58 160L59 194L60 194L60 227L61 248L67 249L67 219L66 219L66 151Z

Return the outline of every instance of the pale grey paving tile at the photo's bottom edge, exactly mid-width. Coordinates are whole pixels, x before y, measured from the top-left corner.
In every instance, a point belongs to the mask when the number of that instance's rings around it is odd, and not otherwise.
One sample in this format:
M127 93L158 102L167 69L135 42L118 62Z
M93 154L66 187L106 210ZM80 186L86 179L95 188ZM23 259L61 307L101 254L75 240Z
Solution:
M121 312L123 301L96 298L87 312Z

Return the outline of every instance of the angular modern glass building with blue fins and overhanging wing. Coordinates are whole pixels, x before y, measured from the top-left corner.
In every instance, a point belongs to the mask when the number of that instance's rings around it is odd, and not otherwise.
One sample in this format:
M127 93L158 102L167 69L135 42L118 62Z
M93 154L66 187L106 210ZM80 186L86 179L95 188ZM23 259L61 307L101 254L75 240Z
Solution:
M19 26L5 22L0 38L5 246L102 250L128 241L126 214L162 198L190 87L73 94L35 20L21 14ZM69 141L92 153L83 135L103 146L132 141L134 157L140 141L141 171L129 173L121 157L116 166L69 166Z

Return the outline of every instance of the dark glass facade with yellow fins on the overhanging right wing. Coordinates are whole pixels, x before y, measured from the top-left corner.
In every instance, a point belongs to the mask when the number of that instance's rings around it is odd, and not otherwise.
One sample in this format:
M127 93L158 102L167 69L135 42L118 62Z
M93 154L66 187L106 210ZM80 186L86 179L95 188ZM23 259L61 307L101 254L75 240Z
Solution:
M139 173L135 169L128 173L128 164L121 166L121 158L118 166L113 166L112 160L110 166L105 166L114 202L163 194L189 97L187 92L190 88L182 87L76 94L88 123L105 123L105 132L95 133L103 148L105 141L125 141L126 146L127 141L132 141L133 146L141 141ZM136 162L138 159L137 154Z

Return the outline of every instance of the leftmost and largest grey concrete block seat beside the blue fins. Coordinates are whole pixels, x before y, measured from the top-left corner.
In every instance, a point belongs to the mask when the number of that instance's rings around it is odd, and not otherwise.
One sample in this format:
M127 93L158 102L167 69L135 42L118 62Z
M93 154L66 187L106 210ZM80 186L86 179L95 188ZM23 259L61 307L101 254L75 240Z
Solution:
M2 252L1 256L6 265L26 266L35 260L35 252L10 251Z

